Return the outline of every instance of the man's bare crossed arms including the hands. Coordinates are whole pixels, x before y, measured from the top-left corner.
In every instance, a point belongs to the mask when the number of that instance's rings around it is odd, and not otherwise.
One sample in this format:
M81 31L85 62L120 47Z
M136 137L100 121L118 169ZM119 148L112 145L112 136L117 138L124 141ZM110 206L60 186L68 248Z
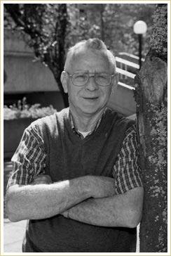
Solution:
M142 218L143 188L115 194L114 179L85 176L51 183L39 175L29 185L8 188L6 211L12 222L64 217L97 226L133 228Z

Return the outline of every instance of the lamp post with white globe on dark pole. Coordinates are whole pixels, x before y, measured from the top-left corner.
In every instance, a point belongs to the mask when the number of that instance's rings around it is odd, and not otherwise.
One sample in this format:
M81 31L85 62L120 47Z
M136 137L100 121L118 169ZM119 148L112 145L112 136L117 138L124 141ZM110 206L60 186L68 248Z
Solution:
M134 25L134 32L138 35L139 41L139 70L142 67L142 34L147 30L146 23L143 20L138 20Z

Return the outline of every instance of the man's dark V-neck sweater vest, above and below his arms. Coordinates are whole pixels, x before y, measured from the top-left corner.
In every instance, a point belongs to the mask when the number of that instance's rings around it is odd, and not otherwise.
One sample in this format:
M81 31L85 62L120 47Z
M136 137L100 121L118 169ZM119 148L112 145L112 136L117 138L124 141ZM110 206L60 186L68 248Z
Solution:
M125 131L132 121L107 110L97 130L80 139L71 129L69 109L34 122L46 148L46 174L55 181L85 175L112 177ZM136 229L94 226L55 215L30 220L25 252L132 252Z

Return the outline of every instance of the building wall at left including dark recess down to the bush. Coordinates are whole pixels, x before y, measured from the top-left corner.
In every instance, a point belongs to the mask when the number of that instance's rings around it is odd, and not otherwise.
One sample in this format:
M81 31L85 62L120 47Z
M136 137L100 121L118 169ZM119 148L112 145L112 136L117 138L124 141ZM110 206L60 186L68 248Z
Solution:
M34 53L20 32L4 30L4 104L17 103L24 96L27 103L64 108L60 89L48 67L34 61Z

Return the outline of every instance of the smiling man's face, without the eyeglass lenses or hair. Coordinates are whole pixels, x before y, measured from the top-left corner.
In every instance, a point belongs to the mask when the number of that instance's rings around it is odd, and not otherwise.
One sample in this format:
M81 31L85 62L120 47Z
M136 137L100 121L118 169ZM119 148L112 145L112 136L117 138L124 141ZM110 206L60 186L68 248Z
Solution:
M80 53L71 62L69 75L74 72L105 72L113 75L109 61L104 56L92 52ZM95 77L90 77L88 83L83 87L76 87L71 79L67 78L67 86L64 88L69 95L69 106L71 110L81 115L95 115L103 110L109 100L113 79L107 87L100 87L95 82Z

